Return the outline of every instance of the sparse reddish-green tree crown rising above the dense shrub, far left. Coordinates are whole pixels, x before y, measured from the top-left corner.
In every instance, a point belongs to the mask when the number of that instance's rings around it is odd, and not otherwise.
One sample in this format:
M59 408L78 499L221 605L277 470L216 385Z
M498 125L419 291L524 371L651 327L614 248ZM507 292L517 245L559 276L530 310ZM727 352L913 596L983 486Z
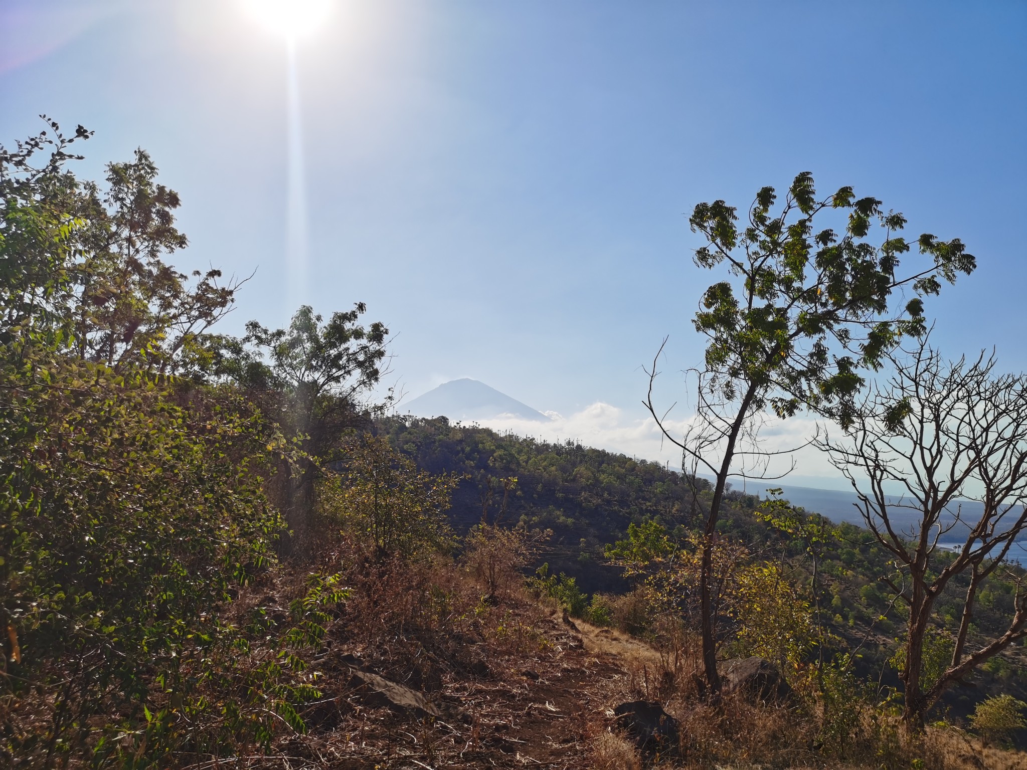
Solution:
M61 335L82 360L117 371L178 374L208 343L242 281L219 270L177 271L164 259L186 246L175 226L178 194L157 180L143 150L110 163L106 187L64 168L91 136L46 131L13 151L0 148L0 280L8 329L31 321ZM49 151L49 158L37 161Z

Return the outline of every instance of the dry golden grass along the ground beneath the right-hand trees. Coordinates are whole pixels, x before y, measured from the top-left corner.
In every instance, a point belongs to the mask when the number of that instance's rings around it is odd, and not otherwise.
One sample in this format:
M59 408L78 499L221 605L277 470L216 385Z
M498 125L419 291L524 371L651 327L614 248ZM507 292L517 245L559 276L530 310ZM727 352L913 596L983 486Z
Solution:
M643 698L663 703L681 724L680 756L667 767L687 770L767 768L916 768L924 770L1027 770L1027 754L985 747L956 728L929 728L922 737L904 739L899 721L853 703L863 710L848 740L832 755L821 741L815 703L791 707L753 705L725 698L717 707L699 702L692 677L699 672L696 641L675 629L656 629L651 646L622 631L575 621L585 649L616 661L624 676L609 701ZM607 722L609 724L609 722ZM630 767L624 741L597 733L589 746L597 767ZM626 745L631 756L634 748ZM637 759L637 757L636 757ZM606 762L606 765L600 765Z

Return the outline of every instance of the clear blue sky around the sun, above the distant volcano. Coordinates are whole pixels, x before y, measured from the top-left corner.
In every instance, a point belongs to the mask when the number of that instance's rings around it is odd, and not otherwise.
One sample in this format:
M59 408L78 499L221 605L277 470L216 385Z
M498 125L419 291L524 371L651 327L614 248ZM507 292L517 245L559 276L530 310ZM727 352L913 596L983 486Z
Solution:
M671 373L701 355L687 213L801 170L962 238L936 340L1027 368L1025 2L340 2L298 56L304 296L367 302L412 396L471 377L638 427L660 340ZM231 0L0 0L0 142L45 112L96 130L85 176L148 149L177 264L257 268L226 331L292 309L284 105L281 39Z

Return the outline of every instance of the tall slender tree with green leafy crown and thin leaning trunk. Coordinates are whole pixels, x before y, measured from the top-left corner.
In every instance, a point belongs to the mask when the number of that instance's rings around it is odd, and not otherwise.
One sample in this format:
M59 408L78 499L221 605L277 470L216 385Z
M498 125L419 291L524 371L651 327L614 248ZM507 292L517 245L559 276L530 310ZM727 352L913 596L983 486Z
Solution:
M903 336L922 334L921 298L976 266L958 239L924 233L910 243L901 235L902 215L885 211L876 198L857 198L850 187L817 198L808 172L795 178L774 210L776 200L773 188L762 188L740 226L737 209L723 200L695 206L689 223L706 239L695 264L728 275L706 291L695 315L708 344L705 365L693 373L695 416L686 433L672 430L667 412L655 406L656 360L646 398L664 435L681 449L690 477L715 478L699 581L703 668L714 694L720 690L714 538L728 478L753 474L753 461L766 457L758 441L763 415L788 418L810 409L849 425L864 384L861 370L879 367ZM817 229L832 213L847 214L843 229ZM875 223L881 238L872 242ZM923 263L901 271L901 258L914 246ZM897 308L901 290L912 297Z

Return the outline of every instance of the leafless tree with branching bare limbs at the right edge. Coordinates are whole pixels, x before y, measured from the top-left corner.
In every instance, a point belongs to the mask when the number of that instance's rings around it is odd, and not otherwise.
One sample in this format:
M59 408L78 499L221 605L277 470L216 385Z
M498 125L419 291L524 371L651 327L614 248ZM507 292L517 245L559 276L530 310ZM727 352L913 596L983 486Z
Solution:
M1020 571L1005 631L968 640L982 583L1027 529L1027 379L995 375L993 354L946 361L926 338L906 352L890 356L893 374L867 397L846 435L819 445L852 484L867 527L902 573L884 580L909 609L903 716L917 728L953 682L1027 637ZM945 538L957 539L954 554L941 547ZM965 592L952 659L937 681L924 682L931 613L959 575Z

